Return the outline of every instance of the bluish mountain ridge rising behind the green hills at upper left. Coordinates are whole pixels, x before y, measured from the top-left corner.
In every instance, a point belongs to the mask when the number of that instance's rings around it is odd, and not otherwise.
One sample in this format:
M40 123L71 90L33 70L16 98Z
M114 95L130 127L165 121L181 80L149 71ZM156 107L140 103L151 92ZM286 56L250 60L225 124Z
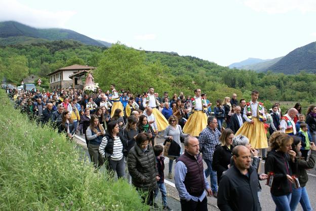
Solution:
M62 28L33 28L15 21L0 22L0 45L30 44L55 40L74 40L93 46L108 46L78 32Z

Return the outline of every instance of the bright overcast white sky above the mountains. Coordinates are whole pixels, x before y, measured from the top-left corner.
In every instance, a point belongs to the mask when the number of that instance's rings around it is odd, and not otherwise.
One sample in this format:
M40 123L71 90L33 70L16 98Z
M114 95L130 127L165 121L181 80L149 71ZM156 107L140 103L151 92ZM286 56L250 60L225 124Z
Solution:
M316 41L314 0L0 0L0 21L67 28L93 39L227 66Z

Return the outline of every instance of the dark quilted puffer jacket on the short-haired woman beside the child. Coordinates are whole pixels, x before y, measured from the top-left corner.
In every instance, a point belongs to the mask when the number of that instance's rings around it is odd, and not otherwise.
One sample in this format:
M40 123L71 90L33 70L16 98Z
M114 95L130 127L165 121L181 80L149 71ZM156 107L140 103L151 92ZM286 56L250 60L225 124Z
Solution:
M153 190L157 186L156 176L159 175L156 157L152 147L148 145L145 152L136 144L128 154L128 170L132 184L144 191Z

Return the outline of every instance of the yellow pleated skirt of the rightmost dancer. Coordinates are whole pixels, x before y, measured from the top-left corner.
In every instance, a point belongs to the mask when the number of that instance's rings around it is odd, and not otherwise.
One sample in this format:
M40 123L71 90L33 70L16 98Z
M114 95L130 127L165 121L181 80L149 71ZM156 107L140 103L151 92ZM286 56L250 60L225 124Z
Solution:
M235 135L245 135L249 139L251 147L255 149L268 148L263 123L257 118L252 120L255 122L254 124L245 122Z

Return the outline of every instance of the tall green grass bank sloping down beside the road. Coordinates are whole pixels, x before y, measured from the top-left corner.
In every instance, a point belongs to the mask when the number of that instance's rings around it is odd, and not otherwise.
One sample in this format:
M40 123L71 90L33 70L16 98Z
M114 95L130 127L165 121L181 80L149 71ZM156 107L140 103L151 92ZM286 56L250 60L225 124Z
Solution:
M0 90L0 210L146 210L136 190L94 172L81 150L14 110Z

